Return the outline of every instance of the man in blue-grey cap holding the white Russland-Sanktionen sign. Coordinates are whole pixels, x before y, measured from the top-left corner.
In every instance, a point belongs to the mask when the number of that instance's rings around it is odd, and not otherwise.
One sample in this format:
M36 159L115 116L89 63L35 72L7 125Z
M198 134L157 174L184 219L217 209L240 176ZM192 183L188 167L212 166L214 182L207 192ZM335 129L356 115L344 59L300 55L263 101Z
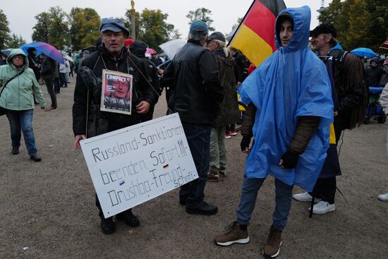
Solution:
M141 61L128 54L124 41L129 35L128 29L116 18L103 18L99 28L102 45L83 61L78 70L74 91L73 104L73 132L74 147L80 149L80 140L101 135L120 128L140 123L140 114L147 114L150 105L156 101L154 90L147 83L145 71L139 71ZM116 112L101 112L102 72L125 73L131 80L133 93L131 97L132 111L126 114ZM131 75L131 76L130 76ZM117 83L117 82L116 82ZM113 84L112 84L113 85ZM127 85L128 87L128 85ZM96 195L96 205L101 217L101 230L104 234L114 232L112 217L104 218L99 199ZM116 215L116 219L123 220L128 226L138 227L139 220L126 210Z

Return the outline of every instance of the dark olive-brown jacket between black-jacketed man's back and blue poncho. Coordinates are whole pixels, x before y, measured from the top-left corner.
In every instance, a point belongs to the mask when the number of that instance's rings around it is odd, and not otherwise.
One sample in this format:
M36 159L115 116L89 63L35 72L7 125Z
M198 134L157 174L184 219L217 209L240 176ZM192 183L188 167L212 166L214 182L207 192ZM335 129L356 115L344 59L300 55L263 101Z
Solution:
M239 117L236 78L234 76L234 59L225 55L224 48L212 52L219 68L219 78L225 92L221 109L212 126L235 124Z

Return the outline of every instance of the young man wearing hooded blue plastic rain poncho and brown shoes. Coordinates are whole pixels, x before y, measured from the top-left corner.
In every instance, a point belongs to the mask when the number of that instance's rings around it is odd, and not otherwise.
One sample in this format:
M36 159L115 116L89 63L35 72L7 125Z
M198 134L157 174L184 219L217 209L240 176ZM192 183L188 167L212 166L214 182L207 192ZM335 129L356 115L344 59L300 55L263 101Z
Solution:
M275 25L279 49L239 89L241 99L248 104L241 150L249 155L237 221L225 234L215 236L218 245L248 243L247 226L257 191L270 174L275 178L276 207L263 253L279 255L293 185L313 190L320 174L334 111L326 68L308 47L309 29L308 6L281 11ZM253 131L247 125L252 125Z

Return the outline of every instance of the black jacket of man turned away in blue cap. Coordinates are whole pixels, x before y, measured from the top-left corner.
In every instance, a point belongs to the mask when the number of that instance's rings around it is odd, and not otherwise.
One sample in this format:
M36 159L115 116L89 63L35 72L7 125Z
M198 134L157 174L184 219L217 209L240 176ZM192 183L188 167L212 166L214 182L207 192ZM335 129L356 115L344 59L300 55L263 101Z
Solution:
M217 63L208 49L188 40L166 69L164 81L172 88L169 107L178 112L181 121L212 124L224 90Z

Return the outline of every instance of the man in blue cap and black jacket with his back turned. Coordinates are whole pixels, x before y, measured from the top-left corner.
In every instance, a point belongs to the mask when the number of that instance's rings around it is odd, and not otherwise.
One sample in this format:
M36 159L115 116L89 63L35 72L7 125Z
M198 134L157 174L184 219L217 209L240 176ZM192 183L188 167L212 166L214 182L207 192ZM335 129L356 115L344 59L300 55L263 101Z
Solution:
M207 42L207 25L195 20L190 25L188 42L174 56L164 73L171 85L169 107L178 112L198 171L198 179L181 186L179 203L189 214L214 215L217 206L203 200L210 163L210 129L217 116L224 91L219 71Z

